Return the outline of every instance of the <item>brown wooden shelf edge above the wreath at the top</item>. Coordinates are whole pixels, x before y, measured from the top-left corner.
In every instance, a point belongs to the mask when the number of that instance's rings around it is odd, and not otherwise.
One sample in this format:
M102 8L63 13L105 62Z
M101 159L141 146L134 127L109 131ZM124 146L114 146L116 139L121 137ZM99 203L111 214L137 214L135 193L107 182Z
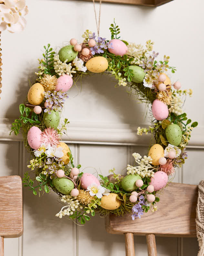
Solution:
M92 2L92 0L83 0ZM99 2L99 0L95 0ZM173 0L102 0L104 3L113 3L113 4L127 4L127 5L140 5L140 6L160 6L164 5Z

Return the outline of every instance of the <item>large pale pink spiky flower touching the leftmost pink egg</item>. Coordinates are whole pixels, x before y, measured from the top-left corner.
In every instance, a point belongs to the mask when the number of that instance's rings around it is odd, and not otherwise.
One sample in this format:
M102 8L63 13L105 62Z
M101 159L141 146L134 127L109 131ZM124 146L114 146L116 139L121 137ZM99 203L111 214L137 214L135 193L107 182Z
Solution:
M42 133L41 133L41 143L46 144L47 146L53 146L59 144L59 134L57 133L54 128L46 128Z

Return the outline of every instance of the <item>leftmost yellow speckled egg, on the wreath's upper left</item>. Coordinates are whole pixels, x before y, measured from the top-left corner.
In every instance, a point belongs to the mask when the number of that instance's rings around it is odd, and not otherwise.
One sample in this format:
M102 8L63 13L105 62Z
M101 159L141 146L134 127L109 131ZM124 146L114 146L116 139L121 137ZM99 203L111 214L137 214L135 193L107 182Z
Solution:
M32 105L39 105L44 99L44 87L40 83L32 85L28 91L28 101Z

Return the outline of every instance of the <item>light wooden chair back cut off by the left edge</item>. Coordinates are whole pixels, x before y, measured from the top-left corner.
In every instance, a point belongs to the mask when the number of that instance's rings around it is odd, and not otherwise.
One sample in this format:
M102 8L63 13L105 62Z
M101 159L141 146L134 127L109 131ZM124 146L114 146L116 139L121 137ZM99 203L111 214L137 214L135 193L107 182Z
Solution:
M4 256L4 238L23 234L23 200L20 176L0 177L0 256Z

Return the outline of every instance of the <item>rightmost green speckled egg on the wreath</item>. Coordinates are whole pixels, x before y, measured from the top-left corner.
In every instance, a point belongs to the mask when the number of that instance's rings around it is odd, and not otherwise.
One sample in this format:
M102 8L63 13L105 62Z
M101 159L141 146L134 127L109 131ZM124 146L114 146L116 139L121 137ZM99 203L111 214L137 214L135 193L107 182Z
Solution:
M177 124L169 124L166 128L165 134L171 145L178 146L181 143L182 131Z

